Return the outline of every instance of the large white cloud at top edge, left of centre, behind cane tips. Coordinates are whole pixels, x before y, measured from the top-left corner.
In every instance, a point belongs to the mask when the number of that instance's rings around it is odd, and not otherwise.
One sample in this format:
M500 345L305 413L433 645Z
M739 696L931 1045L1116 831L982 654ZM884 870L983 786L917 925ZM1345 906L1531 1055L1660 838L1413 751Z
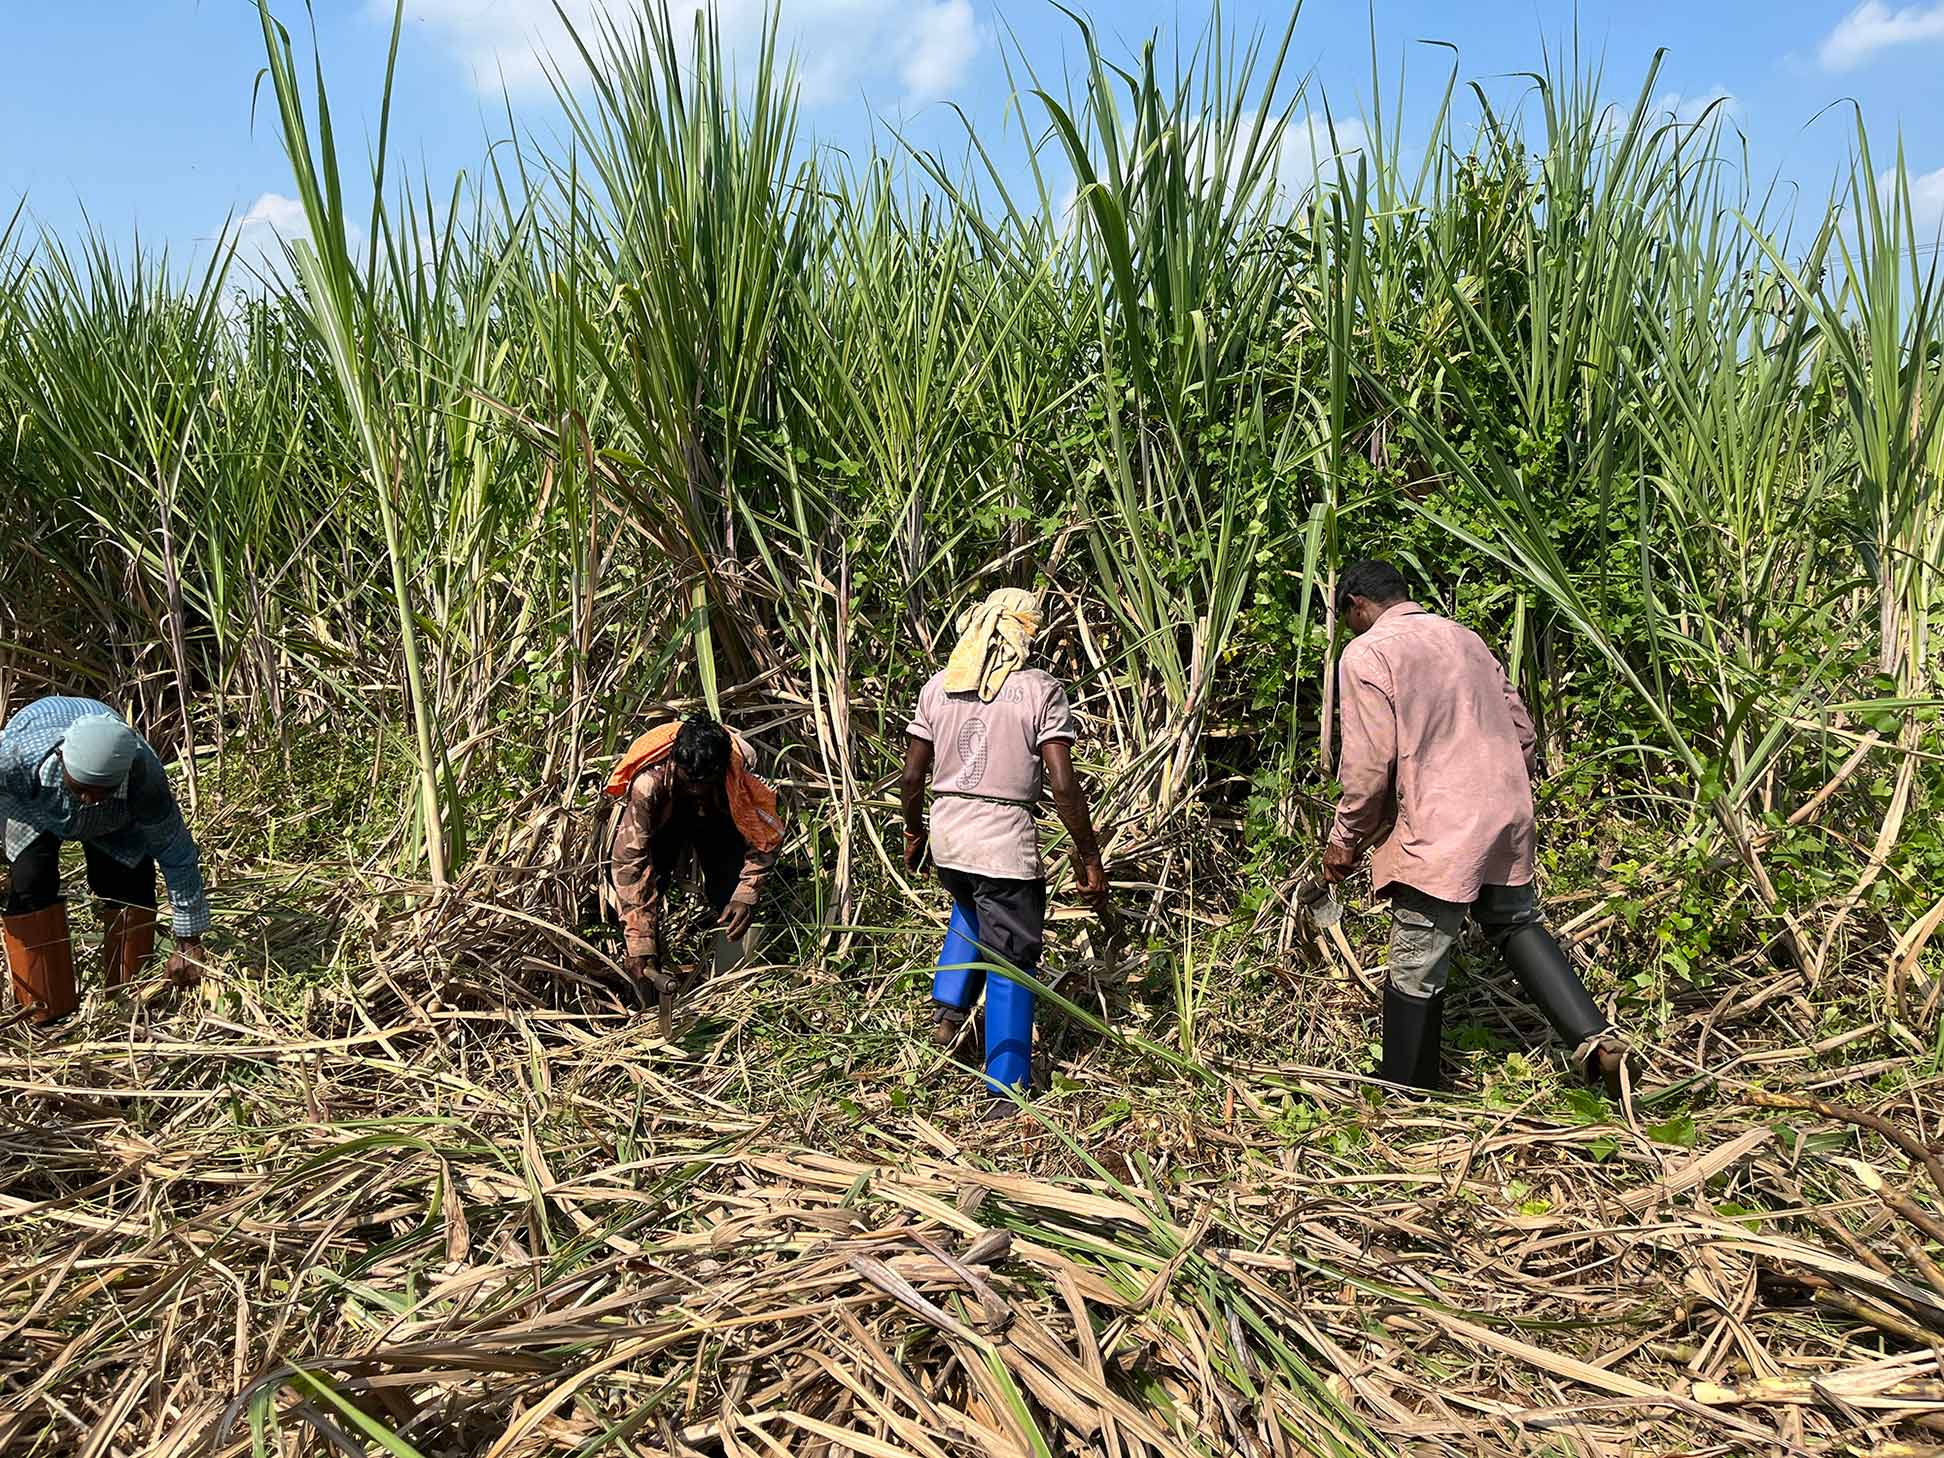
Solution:
M677 37L704 0L669 6ZM568 21L599 51L601 19L632 25L638 0L562 0ZM367 14L391 21L391 0L367 0ZM715 0L729 51L750 52L762 39L762 0ZM548 89L548 64L572 84L585 74L554 0L406 0L406 21L449 49L472 84L496 95ZM890 80L904 99L923 101L956 87L986 41L972 0L783 0L781 35L795 47L803 95L830 101L859 86Z

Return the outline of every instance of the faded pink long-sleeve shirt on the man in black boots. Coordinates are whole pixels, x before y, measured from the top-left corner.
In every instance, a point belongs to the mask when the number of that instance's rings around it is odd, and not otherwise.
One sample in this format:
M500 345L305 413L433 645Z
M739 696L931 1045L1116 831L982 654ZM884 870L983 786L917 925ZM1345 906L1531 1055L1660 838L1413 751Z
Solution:
M1343 752L1330 840L1371 855L1376 890L1446 902L1532 883L1532 715L1485 642L1396 603L1343 649Z

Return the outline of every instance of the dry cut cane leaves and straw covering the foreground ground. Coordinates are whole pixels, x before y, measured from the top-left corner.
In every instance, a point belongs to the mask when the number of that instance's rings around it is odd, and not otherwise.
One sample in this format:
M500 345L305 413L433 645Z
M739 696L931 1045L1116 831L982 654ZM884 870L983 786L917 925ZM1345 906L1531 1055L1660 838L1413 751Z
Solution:
M1804 1042L1794 978L1670 1021L1608 1110L1485 1061L1483 1100L1371 1098L1367 993L1299 960L1285 1007L1205 1011L1250 1058L1198 1081L1069 1024L1056 1093L993 1135L900 1036L916 976L704 984L669 1046L529 970L552 953L492 888L385 921L364 908L412 898L360 890L336 916L367 970L299 999L239 960L202 995L8 1028L4 1450L1944 1437L1934 1081L1857 1098L1870 1069L1829 1044L1870 1030ZM469 970L426 955L455 941ZM1063 941L1065 986L1133 1017L1141 968L1102 986ZM1534 1036L1503 988L1477 999ZM1334 1042L1267 1058L1299 1007ZM791 1089L805 1040L832 1067ZM1705 1042L1705 1096L1656 1120Z

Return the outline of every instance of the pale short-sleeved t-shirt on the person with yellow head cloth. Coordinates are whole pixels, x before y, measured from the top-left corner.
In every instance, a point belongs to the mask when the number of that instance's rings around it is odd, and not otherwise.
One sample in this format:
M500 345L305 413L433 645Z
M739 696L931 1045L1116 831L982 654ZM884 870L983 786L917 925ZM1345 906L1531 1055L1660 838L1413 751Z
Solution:
M1017 669L984 704L978 694L947 694L943 678L931 677L904 725L933 746L931 859L949 871L1038 881L1040 745L1079 737L1067 692L1040 669Z

